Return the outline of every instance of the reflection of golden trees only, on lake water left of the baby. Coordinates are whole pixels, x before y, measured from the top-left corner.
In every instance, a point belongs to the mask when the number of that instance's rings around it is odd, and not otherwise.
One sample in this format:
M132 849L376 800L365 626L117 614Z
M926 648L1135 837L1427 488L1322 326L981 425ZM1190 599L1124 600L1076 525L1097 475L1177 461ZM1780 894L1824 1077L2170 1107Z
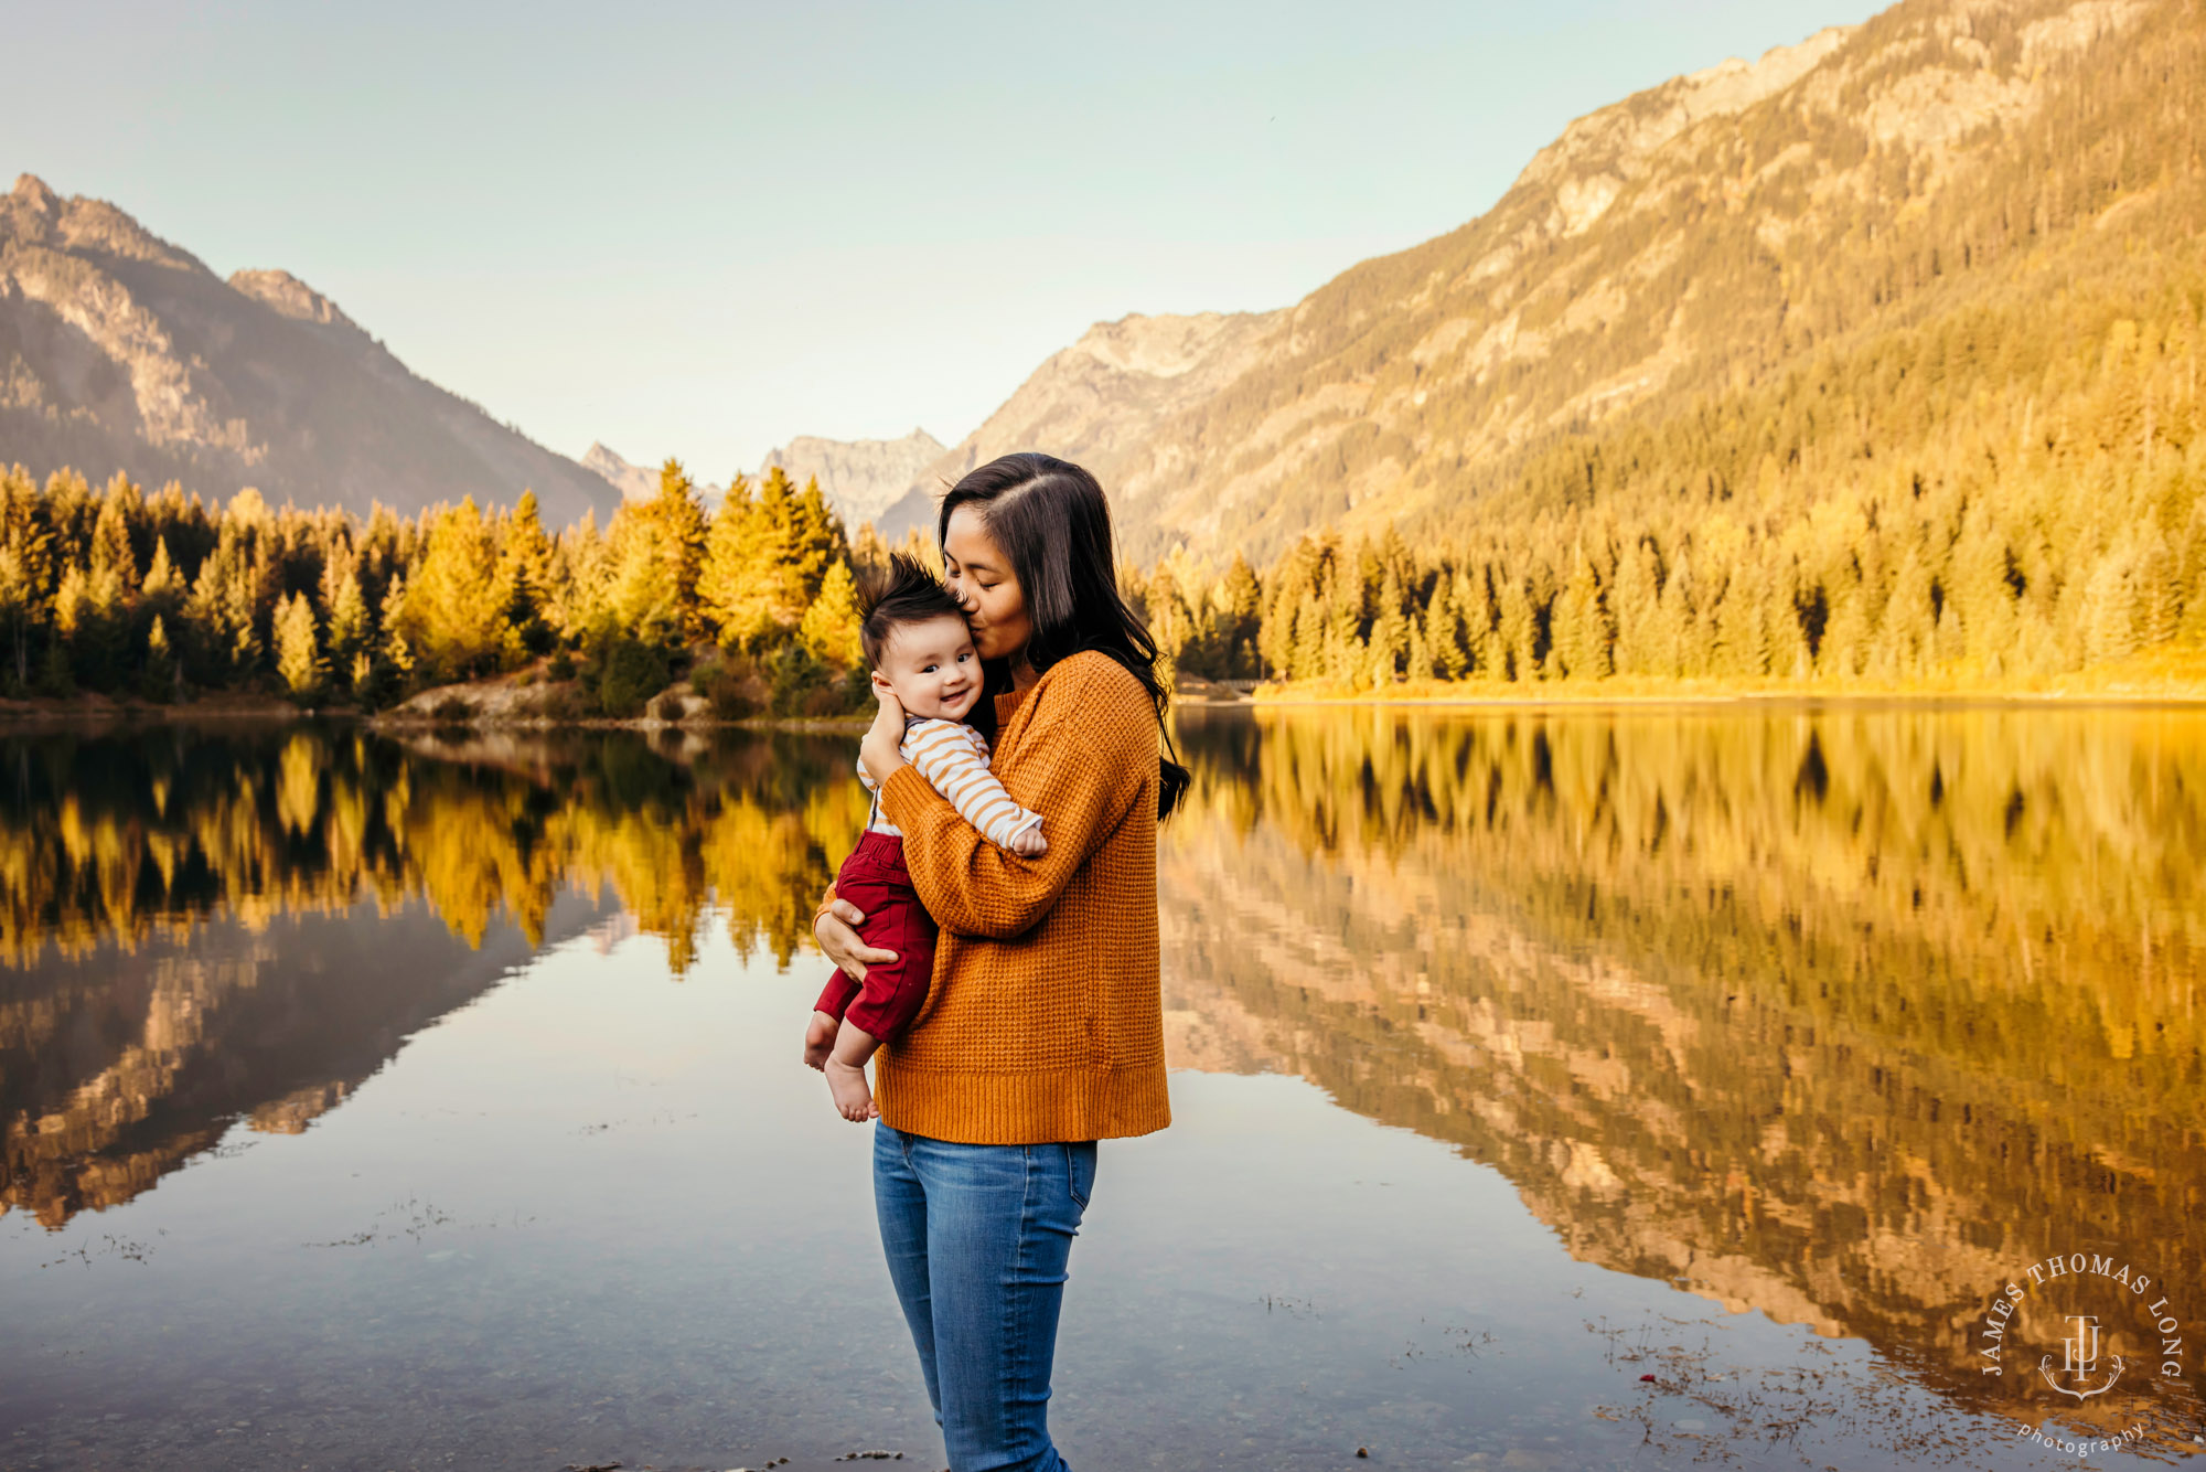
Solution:
M439 739L351 728L163 726L0 748L0 964L424 896L454 934L492 914L540 936L563 887L611 887L695 956L708 909L788 962L865 823L847 742L732 735Z

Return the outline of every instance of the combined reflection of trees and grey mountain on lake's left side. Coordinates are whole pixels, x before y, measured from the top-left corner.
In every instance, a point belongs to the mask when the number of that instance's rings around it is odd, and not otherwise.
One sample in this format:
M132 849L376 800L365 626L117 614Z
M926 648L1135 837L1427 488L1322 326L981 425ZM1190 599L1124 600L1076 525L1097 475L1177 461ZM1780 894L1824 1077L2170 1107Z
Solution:
M7 742L0 1209L62 1225L238 1117L302 1130L615 900L677 969L715 911L788 962L865 819L845 753L296 726Z

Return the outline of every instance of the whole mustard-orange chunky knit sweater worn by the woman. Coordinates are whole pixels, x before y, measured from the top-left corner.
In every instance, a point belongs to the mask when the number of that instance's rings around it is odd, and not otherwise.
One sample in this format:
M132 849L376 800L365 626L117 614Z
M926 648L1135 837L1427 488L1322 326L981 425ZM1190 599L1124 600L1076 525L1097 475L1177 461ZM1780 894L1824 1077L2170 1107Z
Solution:
M880 1119L968 1145L1163 1130L1156 708L1088 651L995 711L995 775L1041 814L1050 850L995 847L911 766L880 788L942 925L927 1004L876 1055Z

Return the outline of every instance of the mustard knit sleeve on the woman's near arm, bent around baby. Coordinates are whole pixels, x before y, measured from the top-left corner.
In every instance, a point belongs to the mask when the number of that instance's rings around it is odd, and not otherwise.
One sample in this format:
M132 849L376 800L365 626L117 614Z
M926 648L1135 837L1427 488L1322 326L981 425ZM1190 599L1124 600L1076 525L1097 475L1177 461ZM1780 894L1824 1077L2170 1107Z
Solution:
M1028 700L1039 704L1002 781L1021 808L1050 814L1050 847L1039 858L988 843L911 766L880 786L882 810L904 830L911 885L949 931L1030 931L1149 790L1156 708L1110 655L1072 655Z

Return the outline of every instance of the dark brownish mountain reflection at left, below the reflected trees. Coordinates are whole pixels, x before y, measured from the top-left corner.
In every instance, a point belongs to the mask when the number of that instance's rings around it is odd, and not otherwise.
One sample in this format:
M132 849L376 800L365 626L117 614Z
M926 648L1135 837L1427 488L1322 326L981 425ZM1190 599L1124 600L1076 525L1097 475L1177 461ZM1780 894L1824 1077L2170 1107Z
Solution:
M600 909L556 903L545 938ZM0 1205L60 1227L150 1190L238 1117L298 1134L529 949L512 925L470 947L426 905L362 900L0 973Z

